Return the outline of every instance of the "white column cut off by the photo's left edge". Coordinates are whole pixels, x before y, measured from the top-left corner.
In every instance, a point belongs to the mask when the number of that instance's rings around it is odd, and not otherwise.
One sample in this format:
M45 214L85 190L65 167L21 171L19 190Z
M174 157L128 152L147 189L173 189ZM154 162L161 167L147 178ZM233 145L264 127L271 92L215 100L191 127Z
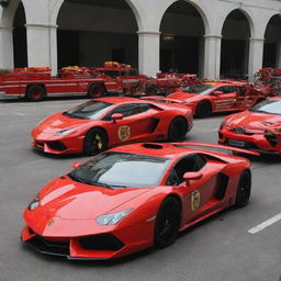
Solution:
M14 68L12 27L0 26L0 68Z

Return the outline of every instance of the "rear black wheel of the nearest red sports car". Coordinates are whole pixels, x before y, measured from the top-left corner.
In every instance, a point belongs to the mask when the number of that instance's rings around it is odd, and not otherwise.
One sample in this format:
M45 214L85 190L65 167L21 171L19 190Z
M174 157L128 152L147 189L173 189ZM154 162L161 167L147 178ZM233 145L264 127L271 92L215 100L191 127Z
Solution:
M249 203L251 189L251 173L249 170L245 170L237 186L235 206L243 207Z

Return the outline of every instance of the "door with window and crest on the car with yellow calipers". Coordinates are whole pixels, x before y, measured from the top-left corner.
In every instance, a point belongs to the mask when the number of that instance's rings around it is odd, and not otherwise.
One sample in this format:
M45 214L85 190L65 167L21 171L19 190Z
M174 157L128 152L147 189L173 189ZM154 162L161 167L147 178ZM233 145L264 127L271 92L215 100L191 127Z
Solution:
M115 108L104 117L104 121L109 122L106 131L110 143L114 145L151 139L151 133L158 124L155 117L158 112L159 110L149 103L128 103ZM111 116L115 113L122 114L123 119L113 122Z

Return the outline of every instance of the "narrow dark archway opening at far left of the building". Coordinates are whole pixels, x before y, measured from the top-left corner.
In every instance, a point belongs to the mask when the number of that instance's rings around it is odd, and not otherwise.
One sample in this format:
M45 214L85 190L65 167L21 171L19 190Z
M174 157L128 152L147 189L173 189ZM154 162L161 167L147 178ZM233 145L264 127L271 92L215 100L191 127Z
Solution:
M14 67L27 66L27 45L25 29L25 12L22 2L20 2L13 19L13 54Z

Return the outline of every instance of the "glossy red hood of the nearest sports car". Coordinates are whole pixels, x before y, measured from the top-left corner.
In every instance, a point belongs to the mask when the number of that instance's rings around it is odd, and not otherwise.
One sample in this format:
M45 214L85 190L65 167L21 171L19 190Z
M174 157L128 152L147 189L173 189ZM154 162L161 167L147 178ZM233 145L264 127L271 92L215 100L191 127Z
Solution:
M149 191L150 188L109 189L72 181L67 176L48 183L40 193L34 211L50 218L95 218L114 212L122 204Z

